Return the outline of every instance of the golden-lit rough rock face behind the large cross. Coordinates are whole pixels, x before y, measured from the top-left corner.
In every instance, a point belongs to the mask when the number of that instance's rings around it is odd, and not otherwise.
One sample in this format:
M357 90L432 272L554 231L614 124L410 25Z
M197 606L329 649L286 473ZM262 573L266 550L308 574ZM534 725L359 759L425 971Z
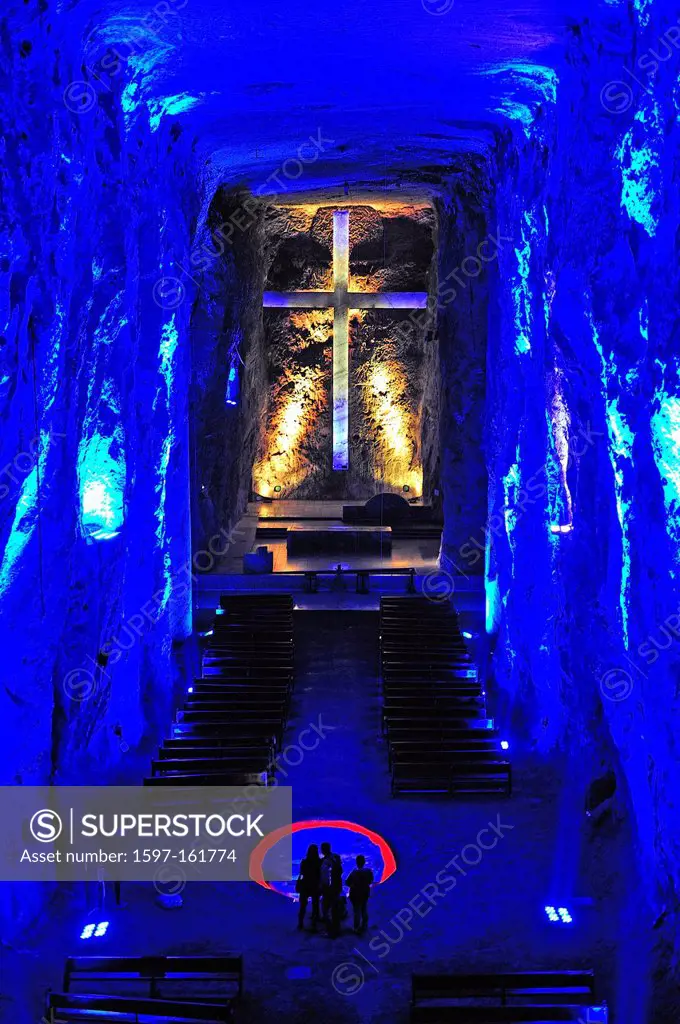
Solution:
M433 212L425 204L387 203L275 208L267 289L332 289L333 211L340 208L350 211L350 291L428 291ZM274 498L368 499L409 487L409 497L419 497L424 311L351 310L346 472L332 469L332 309L265 309L263 316L269 400L253 489Z

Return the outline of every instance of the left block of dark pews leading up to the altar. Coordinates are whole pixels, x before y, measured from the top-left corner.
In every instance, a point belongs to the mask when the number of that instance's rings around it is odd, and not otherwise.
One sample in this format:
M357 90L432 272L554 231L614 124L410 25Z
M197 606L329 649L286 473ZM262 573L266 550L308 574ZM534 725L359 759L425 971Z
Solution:
M288 721L293 672L292 596L223 596L201 677L144 784L266 785Z

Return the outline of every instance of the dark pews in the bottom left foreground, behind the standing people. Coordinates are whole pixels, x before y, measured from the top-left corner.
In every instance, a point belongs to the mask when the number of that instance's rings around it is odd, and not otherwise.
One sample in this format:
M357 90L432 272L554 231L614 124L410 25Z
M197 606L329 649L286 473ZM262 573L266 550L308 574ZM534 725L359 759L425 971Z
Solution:
M70 956L45 1020L76 1024L226 1024L243 991L243 957Z

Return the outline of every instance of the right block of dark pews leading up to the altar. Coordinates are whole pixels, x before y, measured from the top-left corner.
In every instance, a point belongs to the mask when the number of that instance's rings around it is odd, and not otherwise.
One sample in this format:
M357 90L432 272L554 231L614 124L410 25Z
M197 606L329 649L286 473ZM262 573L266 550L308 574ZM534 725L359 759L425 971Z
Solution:
M392 794L509 796L510 764L451 602L383 597L380 654Z

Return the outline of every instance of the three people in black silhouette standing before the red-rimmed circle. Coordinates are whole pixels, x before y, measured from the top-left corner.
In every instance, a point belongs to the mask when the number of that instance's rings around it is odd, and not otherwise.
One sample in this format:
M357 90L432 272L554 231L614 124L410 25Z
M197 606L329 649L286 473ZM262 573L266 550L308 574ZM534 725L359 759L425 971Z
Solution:
M349 902L354 911L354 932L360 935L369 927L369 897L373 885L373 871L366 866L366 857L356 857L356 866L343 882L342 861L333 853L330 843L322 843L322 855L315 843L307 849L300 864L296 891L300 896L298 928L304 928L307 903L311 900L311 928L315 931L321 922L326 934L335 938L346 916L344 887L349 890Z

